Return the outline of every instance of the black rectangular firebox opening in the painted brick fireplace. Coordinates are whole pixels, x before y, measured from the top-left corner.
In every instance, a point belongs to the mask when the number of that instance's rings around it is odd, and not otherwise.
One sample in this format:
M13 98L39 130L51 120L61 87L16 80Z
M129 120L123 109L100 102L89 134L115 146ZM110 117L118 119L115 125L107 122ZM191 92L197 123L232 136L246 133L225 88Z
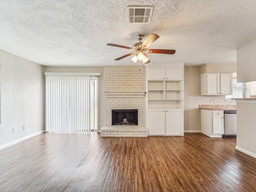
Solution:
M138 109L112 109L112 125L138 125Z

